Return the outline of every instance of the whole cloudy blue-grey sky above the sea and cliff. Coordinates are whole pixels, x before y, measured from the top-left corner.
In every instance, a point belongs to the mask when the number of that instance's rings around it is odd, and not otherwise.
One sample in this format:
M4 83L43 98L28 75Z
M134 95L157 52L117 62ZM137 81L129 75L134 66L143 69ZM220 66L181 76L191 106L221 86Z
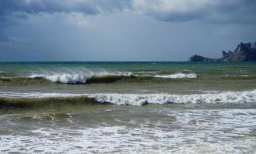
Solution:
M0 0L0 61L186 61L256 42L255 0Z

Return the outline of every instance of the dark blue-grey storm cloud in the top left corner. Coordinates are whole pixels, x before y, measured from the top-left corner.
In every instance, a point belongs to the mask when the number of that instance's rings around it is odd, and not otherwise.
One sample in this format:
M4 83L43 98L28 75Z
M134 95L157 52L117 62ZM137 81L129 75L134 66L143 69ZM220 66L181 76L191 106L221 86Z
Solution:
M114 0L0 0L0 25L15 25L19 19L38 13L83 12L96 15L103 12L117 12L129 7L129 1Z

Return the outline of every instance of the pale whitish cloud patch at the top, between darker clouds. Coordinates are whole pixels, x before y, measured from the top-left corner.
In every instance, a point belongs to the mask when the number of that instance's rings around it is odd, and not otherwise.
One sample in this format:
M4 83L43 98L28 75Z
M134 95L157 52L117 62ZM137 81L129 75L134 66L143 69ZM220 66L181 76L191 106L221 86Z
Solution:
M203 18L204 14L201 12L207 5L213 5L213 2L195 0L138 0L133 2L135 12L166 22Z

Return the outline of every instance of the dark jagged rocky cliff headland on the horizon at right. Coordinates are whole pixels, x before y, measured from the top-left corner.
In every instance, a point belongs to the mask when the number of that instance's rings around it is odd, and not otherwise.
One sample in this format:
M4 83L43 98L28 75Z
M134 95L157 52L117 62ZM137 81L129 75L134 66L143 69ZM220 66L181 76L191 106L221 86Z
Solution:
M222 52L220 59L210 59L200 55L193 55L189 62L256 62L256 42L243 43L237 45L234 52Z

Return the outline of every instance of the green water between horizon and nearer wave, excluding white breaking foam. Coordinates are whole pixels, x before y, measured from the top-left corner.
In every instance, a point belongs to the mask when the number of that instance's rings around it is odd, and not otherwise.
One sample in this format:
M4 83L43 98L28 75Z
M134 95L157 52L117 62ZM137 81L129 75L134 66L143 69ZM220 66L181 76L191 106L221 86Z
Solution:
M131 73L88 84L61 84L47 79L28 79L31 75L108 75ZM155 75L194 73L196 79L155 78ZM145 77L145 76L151 77ZM239 91L256 87L255 62L2 62L0 91L22 92L123 92L123 93L200 93ZM141 77L141 78L140 78ZM16 79L10 79L16 78ZM18 79L17 79L18 78ZM26 78L26 79L24 79ZM9 79L9 80L8 80Z

